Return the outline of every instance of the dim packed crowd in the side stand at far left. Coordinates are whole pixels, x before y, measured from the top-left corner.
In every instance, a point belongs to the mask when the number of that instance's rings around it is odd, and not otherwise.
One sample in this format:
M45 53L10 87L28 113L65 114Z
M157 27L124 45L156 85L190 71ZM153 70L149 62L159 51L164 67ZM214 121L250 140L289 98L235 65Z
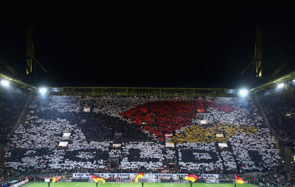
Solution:
M14 128L27 97L15 94L0 94L0 139L6 139Z

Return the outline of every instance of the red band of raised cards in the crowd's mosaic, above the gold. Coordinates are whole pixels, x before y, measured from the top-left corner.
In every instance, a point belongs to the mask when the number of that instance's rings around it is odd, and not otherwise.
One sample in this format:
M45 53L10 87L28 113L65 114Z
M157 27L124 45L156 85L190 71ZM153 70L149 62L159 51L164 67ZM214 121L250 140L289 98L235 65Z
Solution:
M121 115L124 119L131 119L128 121L133 124L142 124L142 122L151 124L145 126L144 130L164 141L165 133L172 133L183 125L191 125L191 119L195 117L195 112L203 106L209 108L215 105L209 101L157 101L145 103L139 107L135 106Z

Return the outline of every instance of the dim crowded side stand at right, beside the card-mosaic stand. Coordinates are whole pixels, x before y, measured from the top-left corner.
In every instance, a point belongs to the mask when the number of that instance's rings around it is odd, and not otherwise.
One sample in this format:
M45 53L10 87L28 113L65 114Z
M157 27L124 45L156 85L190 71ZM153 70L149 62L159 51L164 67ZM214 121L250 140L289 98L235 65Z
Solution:
M278 140L295 140L295 98L294 97L266 97L261 105L270 127ZM290 115L290 116L287 116Z

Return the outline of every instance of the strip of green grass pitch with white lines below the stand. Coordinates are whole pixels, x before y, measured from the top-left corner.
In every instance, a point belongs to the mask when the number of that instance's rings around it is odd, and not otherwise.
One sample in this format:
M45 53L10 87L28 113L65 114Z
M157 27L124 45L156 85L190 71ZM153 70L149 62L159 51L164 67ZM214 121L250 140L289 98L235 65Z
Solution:
M47 182L29 182L26 184L21 185L21 187L47 187ZM138 186L141 187L140 182L136 183L113 183L113 182L106 182L98 183L99 187L128 187L128 186ZM190 187L189 183L163 183L163 182L157 182L157 183L144 183L144 187ZM50 183L50 187L96 187L96 184L94 182L55 182ZM193 187L234 187L234 184L232 183L193 183ZM244 184L239 185L237 184L237 187L259 187L258 185L254 184Z

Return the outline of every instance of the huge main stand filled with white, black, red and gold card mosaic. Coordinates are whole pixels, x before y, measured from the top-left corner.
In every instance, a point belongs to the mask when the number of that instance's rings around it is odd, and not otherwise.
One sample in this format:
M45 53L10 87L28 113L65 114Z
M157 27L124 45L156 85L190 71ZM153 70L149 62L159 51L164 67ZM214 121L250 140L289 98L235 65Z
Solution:
M20 172L243 173L270 171L280 159L251 98L36 96L30 109L6 152L6 167ZM110 158L119 166L110 168ZM173 168L168 159L176 160Z

